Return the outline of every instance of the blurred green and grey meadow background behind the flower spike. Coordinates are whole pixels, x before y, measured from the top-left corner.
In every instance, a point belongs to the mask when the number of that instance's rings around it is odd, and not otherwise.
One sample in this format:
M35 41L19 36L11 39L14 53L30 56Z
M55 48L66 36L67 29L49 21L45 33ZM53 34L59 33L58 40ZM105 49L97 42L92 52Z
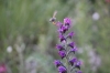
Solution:
M0 73L58 73L56 27L68 17L84 73L110 73L110 0L0 0Z

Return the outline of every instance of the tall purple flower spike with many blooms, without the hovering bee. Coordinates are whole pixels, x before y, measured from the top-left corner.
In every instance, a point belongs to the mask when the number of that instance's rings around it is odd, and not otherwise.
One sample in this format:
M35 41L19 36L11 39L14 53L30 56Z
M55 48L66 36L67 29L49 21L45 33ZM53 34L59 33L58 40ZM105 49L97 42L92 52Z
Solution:
M58 50L58 54L62 58L62 60L66 59L68 63L68 67L63 64L62 61L55 60L54 64L57 67L59 73L81 73L80 71L80 61L78 61L75 55L70 58L70 53L76 53L77 46L75 42L68 42L68 39L72 40L72 38L75 35L74 32L67 33L69 28L72 27L72 21L69 18L65 18L64 22L56 22L56 25L58 28L58 34L59 34L59 44L56 44L56 49Z

